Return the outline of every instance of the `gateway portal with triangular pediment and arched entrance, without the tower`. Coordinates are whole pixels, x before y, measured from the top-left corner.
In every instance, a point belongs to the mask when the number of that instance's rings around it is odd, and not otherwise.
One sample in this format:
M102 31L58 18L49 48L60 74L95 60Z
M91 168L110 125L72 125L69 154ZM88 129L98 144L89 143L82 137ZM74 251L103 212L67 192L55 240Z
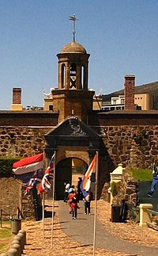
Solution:
M77 182L78 177L85 174L96 151L100 150L101 136L78 117L66 117L57 128L45 135L45 139L47 158L51 159L51 155L56 151L55 198L62 200L64 183Z

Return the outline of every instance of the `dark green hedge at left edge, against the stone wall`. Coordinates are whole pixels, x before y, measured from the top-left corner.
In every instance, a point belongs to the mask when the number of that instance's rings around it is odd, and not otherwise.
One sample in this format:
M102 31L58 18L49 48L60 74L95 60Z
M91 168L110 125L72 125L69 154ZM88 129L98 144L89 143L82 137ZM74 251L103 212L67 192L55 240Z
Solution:
M13 162L19 159L0 158L0 178L9 178L13 176Z

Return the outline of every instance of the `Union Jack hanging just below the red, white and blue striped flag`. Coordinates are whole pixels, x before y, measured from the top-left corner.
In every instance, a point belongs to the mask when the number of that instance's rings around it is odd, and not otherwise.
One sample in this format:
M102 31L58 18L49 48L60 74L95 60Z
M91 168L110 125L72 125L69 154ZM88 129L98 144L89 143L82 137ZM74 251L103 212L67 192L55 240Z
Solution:
M34 185L40 183L43 178L43 169L36 170L36 172L32 175L32 178L27 183L27 187L25 189L25 194L29 193L29 191L33 188Z

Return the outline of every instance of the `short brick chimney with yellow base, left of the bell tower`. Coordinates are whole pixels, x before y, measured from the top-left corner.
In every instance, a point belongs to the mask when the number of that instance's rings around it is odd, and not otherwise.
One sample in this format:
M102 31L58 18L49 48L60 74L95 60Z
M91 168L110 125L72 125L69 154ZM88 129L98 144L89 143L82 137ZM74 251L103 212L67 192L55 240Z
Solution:
M13 88L13 104L11 105L11 110L22 111L21 88Z

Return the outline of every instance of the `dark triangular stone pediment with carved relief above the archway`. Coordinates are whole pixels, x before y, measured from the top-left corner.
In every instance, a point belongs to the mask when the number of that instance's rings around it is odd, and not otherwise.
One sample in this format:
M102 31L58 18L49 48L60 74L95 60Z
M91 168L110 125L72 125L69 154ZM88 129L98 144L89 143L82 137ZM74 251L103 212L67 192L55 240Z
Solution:
M99 137L87 124L81 122L78 117L67 117L58 124L58 127L47 133L47 136L75 136L75 137Z

